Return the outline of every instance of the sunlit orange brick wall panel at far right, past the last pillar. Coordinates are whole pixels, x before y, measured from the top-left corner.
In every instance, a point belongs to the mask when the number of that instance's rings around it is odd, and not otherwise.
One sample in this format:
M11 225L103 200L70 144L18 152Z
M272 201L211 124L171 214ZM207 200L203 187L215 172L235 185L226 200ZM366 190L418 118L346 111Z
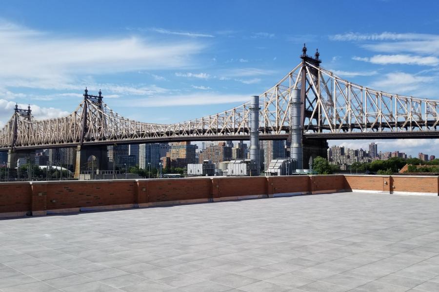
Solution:
M438 193L438 177L394 176L393 191L415 193Z

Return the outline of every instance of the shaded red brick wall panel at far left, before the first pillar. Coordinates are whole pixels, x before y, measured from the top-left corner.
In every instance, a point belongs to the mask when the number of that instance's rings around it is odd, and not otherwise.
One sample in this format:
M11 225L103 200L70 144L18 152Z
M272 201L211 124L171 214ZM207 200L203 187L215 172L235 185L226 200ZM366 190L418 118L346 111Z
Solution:
M0 183L0 213L31 210L31 197L29 183Z

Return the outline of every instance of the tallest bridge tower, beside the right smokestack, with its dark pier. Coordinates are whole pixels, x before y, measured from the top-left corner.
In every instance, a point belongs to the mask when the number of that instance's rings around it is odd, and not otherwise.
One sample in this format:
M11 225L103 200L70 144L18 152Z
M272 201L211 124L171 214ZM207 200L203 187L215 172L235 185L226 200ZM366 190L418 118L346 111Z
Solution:
M301 126L301 145L302 145L302 167L307 169L312 167L312 161L317 157L321 156L326 158L327 157L327 150L328 150L328 142L326 140L321 139L309 139L304 138L303 136L303 129L305 128L305 122L309 121L311 119L312 113L314 111L314 108L317 107L317 101L319 99L319 96L317 95L317 92L314 92L309 85L309 82L307 82L306 75L307 71L309 71L310 74L308 74L308 78L313 78L313 81L316 82L319 80L319 72L316 68L320 67L321 60L319 58L320 53L319 49L316 50L316 53L314 56L307 55L307 48L306 45L303 44L302 48L302 55L300 55L300 58L302 59L302 70L301 72L301 78L300 78L300 126ZM307 66L307 63L315 66L316 68L313 68L311 66ZM316 82L317 83L317 82ZM319 85L318 85L319 86ZM321 119L321 115L318 115L318 119ZM320 124L318 121L318 124ZM294 134L294 133L293 133ZM298 168L302 168L299 167Z

